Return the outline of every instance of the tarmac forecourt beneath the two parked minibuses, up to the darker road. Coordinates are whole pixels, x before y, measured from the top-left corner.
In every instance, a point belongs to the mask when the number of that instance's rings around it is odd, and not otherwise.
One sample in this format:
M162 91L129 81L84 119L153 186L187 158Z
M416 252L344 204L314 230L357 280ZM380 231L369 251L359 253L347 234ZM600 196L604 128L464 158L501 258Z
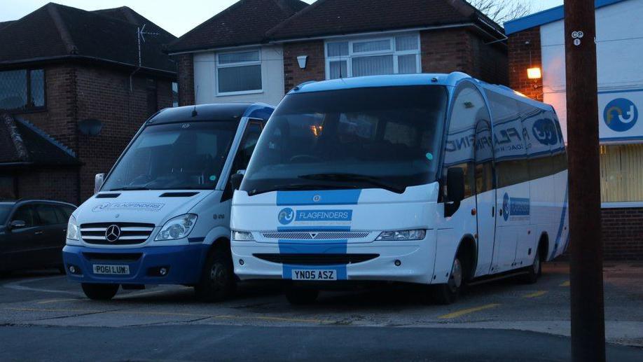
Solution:
M643 264L605 265L607 340L635 347L628 350L640 353L643 360L642 281ZM286 301L278 284L241 284L235 298L212 304L199 302L193 289L185 286L119 291L113 300L97 302L85 298L80 286L55 271L25 272L0 279L0 326L0 334L5 328L42 326L99 330L274 326L384 327L400 331L452 328L453 333L466 329L518 330L568 336L569 275L566 263L549 263L537 284L505 279L472 286L453 305L423 305L415 291L392 286L323 292L317 303L295 307Z

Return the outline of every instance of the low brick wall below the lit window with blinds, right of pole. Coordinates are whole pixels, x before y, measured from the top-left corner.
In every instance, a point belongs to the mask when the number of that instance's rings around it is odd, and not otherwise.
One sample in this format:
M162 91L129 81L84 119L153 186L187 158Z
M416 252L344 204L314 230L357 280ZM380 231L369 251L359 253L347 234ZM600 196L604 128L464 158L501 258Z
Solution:
M643 208L602 209L605 260L643 260Z

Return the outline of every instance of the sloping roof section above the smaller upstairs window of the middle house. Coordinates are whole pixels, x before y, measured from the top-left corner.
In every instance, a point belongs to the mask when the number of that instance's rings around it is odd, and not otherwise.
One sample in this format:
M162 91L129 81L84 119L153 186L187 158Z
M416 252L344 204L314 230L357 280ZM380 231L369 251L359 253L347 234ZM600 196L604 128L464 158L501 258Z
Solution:
M300 0L240 0L168 46L170 53L262 43L265 32L308 6Z

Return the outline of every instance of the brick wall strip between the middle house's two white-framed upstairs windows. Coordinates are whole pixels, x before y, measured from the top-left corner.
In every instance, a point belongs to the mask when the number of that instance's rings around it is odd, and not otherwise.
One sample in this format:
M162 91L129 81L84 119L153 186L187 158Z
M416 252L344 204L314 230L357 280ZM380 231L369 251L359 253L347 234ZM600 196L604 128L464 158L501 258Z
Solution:
M307 55L306 68L300 69L297 57ZM307 81L324 81L326 62L324 41L306 41L284 44L284 88L289 92L295 85Z

